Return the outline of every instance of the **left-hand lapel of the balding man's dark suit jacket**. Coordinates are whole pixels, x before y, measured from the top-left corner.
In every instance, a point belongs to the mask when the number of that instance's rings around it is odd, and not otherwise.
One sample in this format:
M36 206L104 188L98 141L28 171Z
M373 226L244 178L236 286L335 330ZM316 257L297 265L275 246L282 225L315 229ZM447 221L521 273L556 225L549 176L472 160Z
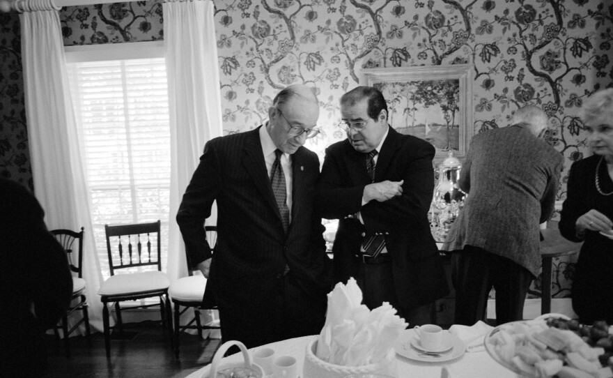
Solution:
M256 188L262 193L275 213L277 213L279 219L281 219L281 214L279 214L279 208L277 207L277 202L274 200L274 194L270 186L268 172L266 172L266 162L264 161L264 154L262 152L259 128L249 132L242 153L242 164L254 180Z

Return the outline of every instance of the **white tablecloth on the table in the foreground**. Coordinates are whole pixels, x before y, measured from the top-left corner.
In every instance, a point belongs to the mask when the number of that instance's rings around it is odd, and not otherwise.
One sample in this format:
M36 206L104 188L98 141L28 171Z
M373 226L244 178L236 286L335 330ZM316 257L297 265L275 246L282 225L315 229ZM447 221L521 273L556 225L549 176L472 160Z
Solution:
M249 353L253 358L253 351L258 348L269 347L274 349L275 356L289 355L296 358L298 363L298 371L302 376L302 364L304 363L304 355L307 349L307 344L316 336L305 336L304 338L295 338L272 344L263 345L254 349L249 349ZM494 361L487 351L467 351L463 356L453 361L442 363L424 363L412 361L408 358L396 355L398 361L398 378L440 378L441 369L447 366L451 371L452 378L517 378L514 372L507 370L502 365ZM233 354L223 359L226 362L242 362L242 354ZM205 378L208 377L209 367L193 372L187 378ZM274 378L272 376L267 376Z

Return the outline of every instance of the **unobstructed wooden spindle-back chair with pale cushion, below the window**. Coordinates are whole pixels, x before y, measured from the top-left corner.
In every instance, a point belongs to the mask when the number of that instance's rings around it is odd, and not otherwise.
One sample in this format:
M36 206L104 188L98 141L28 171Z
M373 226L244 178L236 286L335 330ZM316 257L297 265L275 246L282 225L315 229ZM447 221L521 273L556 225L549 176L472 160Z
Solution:
M162 326L168 328L172 344L170 280L162 272L160 220L152 223L104 226L111 277L100 286L104 324L104 347L111 356L111 328L123 331L120 302L160 298L160 303L132 305L124 310L160 306ZM109 305L115 307L117 324L109 324Z

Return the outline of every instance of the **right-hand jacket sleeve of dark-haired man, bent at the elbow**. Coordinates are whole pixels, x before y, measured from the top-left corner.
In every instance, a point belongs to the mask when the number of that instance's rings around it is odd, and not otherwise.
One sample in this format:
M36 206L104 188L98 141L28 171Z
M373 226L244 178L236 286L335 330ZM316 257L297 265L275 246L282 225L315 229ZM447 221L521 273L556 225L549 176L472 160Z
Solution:
M360 213L367 233L386 232L396 225L421 222L432 201L434 154L431 144L403 146L395 157L400 160L396 164L397 173L404 180L403 194L385 202L371 201L362 207Z

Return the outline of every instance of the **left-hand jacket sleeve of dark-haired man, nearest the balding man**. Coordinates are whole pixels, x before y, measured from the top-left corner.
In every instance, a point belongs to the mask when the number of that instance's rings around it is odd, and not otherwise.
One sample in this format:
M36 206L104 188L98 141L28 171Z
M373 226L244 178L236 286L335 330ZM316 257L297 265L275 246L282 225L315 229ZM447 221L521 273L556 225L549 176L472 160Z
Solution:
M341 160L341 151L326 149L316 187L316 207L322 218L342 219L362 208L364 185L349 186Z

